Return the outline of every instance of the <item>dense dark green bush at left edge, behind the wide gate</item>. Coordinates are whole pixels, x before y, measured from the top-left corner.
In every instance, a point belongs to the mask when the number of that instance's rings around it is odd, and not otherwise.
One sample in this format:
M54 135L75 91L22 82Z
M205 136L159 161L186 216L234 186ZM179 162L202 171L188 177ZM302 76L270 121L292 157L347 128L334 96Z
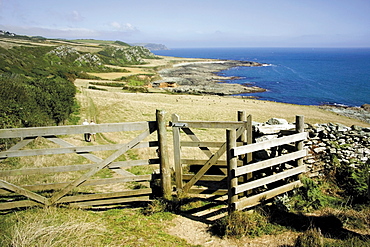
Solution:
M4 128L59 124L73 111L76 88L60 77L0 76L0 122Z

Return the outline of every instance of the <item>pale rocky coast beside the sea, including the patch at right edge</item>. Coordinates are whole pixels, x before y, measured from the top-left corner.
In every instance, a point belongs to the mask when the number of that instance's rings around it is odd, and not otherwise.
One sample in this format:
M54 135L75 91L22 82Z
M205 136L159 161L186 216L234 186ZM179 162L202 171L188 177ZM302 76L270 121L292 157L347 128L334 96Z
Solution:
M162 77L162 80L156 81L153 84L157 84L157 87L164 85L162 89L180 94L231 96L242 93L252 94L256 92L265 92L266 89L264 88L230 83L232 80L239 79L238 77L218 74L223 70L244 66L266 66L266 64L237 60L183 62L174 64L172 68L160 70L158 73ZM252 94L251 96L244 96L243 98L255 97L253 97ZM370 111L367 108L329 105L318 105L316 107L370 124Z

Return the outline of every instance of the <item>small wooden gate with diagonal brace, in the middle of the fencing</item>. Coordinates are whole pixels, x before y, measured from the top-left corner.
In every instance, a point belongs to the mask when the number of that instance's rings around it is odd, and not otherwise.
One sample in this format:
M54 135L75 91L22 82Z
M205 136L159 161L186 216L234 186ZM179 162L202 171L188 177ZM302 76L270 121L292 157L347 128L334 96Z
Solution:
M194 129L221 129L234 128L238 138L238 145L251 143L252 139L252 119L246 117L244 111L238 112L238 121L235 122L214 122L214 121L190 121L180 120L179 116L172 115L173 147L174 147L174 167L175 181L178 192L194 194L227 194L227 163L224 156L226 151L225 140L221 141L201 141ZM190 141L181 140L181 133L190 138ZM222 135L224 136L224 135ZM184 148L201 150L201 155L205 159L200 159L199 155L194 158L183 157ZM251 156L246 156L250 160ZM243 160L239 161L239 165ZM184 169L189 167L199 167L194 169L194 173L184 174ZM217 168L217 169L211 169ZM186 170L186 169L185 169ZM212 171L211 171L212 170Z

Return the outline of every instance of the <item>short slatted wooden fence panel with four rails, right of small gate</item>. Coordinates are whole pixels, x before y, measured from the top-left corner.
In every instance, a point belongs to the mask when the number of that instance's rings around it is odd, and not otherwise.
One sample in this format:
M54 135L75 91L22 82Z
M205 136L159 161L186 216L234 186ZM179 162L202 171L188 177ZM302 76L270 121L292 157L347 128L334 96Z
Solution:
M229 212L256 206L301 185L298 175L306 171L302 158L307 155L303 149L307 138L303 126L303 117L297 116L295 134L243 146L237 146L237 131L227 130ZM295 151L282 154L284 148ZM240 155L259 150L271 150L270 158L238 166ZM240 183L242 180L238 178L245 174L253 176Z

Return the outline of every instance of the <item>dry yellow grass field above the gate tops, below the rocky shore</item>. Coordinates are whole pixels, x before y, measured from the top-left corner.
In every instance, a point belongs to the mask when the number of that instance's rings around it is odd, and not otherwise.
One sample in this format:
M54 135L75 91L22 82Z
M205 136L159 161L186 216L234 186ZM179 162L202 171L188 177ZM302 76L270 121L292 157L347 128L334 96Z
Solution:
M78 95L80 101L90 98L98 109L103 122L149 121L155 119L155 110L178 114L181 119L205 121L235 121L238 110L251 114L253 121L265 122L272 117L294 122L296 115L303 115L305 122L341 123L346 126L368 124L340 116L316 106L302 106L235 97L170 95L145 93L119 93L85 90Z

